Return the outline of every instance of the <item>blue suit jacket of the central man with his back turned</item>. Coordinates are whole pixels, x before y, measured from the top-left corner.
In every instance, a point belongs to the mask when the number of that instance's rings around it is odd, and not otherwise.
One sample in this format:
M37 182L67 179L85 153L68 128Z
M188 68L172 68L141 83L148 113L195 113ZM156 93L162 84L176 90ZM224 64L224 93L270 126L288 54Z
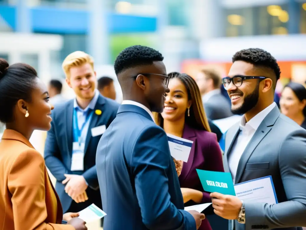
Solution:
M99 141L96 165L105 230L196 229L184 211L166 133L136 105L121 105Z

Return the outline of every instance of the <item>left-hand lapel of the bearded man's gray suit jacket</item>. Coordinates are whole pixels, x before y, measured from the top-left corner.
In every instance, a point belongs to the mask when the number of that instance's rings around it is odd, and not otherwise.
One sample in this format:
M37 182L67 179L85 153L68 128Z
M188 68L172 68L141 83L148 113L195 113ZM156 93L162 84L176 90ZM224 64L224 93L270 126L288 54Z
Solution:
M230 172L228 159L229 159L230 150L233 147L233 143L236 140L236 137L240 132L239 124L240 122L235 124L232 128L230 128L226 132L225 149L224 149L224 156L223 156L223 167L224 167L225 172Z

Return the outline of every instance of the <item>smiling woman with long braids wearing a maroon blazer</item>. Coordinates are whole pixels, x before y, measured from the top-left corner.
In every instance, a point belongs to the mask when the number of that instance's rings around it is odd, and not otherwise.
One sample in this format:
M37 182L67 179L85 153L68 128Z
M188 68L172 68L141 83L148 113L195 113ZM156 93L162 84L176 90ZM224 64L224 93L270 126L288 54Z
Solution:
M181 163L179 176L185 206L211 202L203 190L196 169L224 172L217 136L211 132L196 82L187 74L170 73L164 111L155 121L166 133L192 140L187 163ZM199 229L211 230L207 219Z

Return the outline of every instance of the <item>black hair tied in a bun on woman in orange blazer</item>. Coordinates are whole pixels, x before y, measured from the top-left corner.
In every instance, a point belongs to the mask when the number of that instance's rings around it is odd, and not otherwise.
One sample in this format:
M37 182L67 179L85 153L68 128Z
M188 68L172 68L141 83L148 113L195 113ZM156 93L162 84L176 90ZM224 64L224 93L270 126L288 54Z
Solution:
M0 58L0 121L9 123L13 121L13 110L19 99L31 101L33 83L37 72L28 64L9 63Z

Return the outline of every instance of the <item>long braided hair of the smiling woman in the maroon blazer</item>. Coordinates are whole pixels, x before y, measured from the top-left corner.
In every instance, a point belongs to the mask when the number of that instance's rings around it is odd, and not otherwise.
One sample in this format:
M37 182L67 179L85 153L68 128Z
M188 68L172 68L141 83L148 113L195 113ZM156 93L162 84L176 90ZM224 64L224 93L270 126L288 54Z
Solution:
M178 72L171 72L168 74L169 79L179 79L187 89L188 100L191 100L191 107L189 108L189 114L185 113L185 123L192 128L206 130L211 132L211 128L208 124L208 119L205 115L203 108L200 89L196 84L196 81L188 74L180 74ZM156 124L163 127L163 118L160 113L153 113Z

